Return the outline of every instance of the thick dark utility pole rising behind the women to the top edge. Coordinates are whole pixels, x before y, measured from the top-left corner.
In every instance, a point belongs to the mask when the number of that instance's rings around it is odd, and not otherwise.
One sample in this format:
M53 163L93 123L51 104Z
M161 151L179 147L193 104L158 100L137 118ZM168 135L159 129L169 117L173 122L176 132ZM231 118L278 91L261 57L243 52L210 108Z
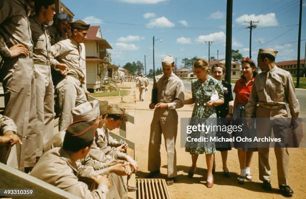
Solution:
M230 83L232 0L226 3L225 81Z

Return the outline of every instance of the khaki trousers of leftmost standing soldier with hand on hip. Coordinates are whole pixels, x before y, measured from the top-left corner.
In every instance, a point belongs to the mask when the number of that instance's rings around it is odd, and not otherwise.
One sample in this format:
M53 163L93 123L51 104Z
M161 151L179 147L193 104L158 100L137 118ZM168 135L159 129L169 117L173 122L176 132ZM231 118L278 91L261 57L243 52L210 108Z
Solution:
M23 145L14 145L6 164L24 170L36 163L36 98L32 58L19 55L5 58L1 68L4 90L4 115L16 126L16 135Z

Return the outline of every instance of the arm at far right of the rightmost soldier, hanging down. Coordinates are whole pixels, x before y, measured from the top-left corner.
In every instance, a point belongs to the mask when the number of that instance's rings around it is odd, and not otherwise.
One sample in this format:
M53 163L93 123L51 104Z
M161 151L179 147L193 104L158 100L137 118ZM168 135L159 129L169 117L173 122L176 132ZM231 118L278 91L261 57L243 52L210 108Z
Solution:
M297 118L299 114L299 103L295 95L295 87L291 75L288 75L287 82L285 83L285 96L289 105L290 114L292 118Z

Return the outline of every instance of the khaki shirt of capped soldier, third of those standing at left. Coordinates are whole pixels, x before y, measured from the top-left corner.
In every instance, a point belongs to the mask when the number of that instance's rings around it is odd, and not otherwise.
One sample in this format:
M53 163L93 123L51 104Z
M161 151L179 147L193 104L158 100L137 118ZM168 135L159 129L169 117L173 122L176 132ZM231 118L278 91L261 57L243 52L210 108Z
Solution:
M72 38L59 41L51 46L51 55L56 58L56 62L64 63L68 66L68 74L77 75L84 79L83 66L85 57L81 53L81 45ZM84 50L84 49L83 49Z

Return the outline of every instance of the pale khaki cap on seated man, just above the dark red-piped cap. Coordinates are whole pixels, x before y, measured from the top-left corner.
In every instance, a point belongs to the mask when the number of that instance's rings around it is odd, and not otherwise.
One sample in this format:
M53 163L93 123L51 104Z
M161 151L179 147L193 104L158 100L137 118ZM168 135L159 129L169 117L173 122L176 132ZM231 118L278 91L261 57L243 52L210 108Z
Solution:
M86 120L92 121L100 116L99 101L92 100L83 102L74 107L71 111L73 121Z

